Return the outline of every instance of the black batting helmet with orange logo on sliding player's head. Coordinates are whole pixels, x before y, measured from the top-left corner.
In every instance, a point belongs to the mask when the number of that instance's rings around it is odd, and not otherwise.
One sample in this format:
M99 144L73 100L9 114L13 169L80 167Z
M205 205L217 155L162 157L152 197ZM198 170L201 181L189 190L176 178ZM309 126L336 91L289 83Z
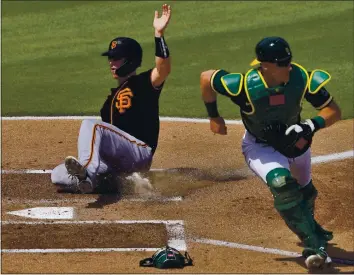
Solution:
M143 50L140 44L129 37L114 38L108 46L108 51L102 53L110 59L124 59L124 63L116 70L120 77L127 76L141 66Z

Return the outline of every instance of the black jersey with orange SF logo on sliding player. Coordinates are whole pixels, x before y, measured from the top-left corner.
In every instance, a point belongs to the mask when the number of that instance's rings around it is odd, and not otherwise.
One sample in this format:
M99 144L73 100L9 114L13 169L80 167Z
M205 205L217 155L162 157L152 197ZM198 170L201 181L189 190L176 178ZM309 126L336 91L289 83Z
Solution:
M159 97L163 85L151 83L152 69L134 75L112 88L101 109L102 121L110 123L156 150L159 131Z

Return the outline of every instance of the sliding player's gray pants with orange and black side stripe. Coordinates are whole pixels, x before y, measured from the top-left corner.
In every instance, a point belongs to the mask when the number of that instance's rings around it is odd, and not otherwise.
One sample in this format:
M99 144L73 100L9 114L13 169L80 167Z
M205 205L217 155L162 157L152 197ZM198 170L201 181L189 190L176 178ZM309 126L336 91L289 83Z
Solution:
M100 174L144 172L150 169L151 148L143 141L101 120L83 120L78 138L78 160L86 168L95 187ZM52 183L70 187L74 184L65 165L55 167Z

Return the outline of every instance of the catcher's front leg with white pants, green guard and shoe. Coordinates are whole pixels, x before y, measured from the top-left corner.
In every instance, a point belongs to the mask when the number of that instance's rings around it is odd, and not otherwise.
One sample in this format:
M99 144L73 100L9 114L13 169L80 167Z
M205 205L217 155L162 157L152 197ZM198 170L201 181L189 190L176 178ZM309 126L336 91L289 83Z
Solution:
M324 264L328 257L327 243L315 231L315 221L300 191L301 186L290 174L289 160L272 147L256 143L247 133L242 149L248 166L267 183L281 217L304 240L303 255L308 267Z

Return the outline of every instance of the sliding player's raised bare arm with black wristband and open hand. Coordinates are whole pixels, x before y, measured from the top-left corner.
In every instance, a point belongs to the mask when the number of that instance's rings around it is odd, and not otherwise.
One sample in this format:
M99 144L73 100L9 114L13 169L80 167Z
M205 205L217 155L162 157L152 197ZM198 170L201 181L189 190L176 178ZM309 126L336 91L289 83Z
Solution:
M171 19L171 7L162 5L162 15L155 11L153 26L155 28L155 62L156 67L151 72L151 83L159 87L171 72L170 53L165 42L164 32Z

